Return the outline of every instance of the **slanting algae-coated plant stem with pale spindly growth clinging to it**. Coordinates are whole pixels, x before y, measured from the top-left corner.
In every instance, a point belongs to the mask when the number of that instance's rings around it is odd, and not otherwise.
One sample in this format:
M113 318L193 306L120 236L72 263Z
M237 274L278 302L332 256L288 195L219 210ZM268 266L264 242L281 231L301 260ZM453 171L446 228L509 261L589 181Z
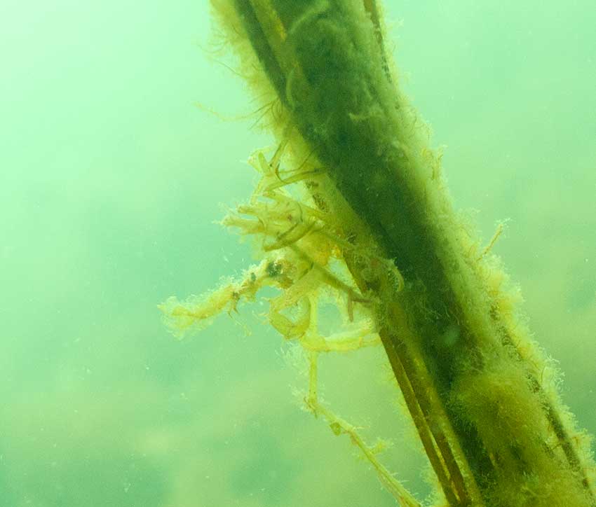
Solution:
M353 426L318 402L318 354L382 343L448 506L596 506L588 439L557 392L515 294L452 209L440 155L398 88L374 0L213 0L280 141L224 223L264 260L207 298L161 305L178 333L264 285L269 320L311 364L306 403L350 436L402 506L418 505ZM296 169L280 170L282 157ZM316 307L346 308L334 337Z

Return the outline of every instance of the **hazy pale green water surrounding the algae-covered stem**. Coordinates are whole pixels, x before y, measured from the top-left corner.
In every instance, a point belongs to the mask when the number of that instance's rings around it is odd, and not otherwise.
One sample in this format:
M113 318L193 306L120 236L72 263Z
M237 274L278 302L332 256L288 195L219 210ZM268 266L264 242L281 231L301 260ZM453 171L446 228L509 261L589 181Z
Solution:
M596 434L593 2L386 4L456 207L484 242L507 221L494 251ZM300 410L306 380L266 302L188 340L161 323L168 296L254 261L214 222L273 140L258 116L232 119L257 105L210 32L205 1L0 6L0 507L394 505L348 438ZM380 349L320 359L325 400L391 438L384 463L424 497L387 379Z

